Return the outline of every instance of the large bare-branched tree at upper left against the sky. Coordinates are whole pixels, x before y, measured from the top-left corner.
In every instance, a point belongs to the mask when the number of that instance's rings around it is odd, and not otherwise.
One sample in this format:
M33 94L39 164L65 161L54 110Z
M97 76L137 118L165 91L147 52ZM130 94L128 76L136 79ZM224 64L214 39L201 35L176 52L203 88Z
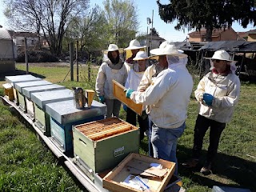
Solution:
M62 52L62 40L74 17L84 14L89 0L9 0L6 17L17 29L43 34L52 54Z

